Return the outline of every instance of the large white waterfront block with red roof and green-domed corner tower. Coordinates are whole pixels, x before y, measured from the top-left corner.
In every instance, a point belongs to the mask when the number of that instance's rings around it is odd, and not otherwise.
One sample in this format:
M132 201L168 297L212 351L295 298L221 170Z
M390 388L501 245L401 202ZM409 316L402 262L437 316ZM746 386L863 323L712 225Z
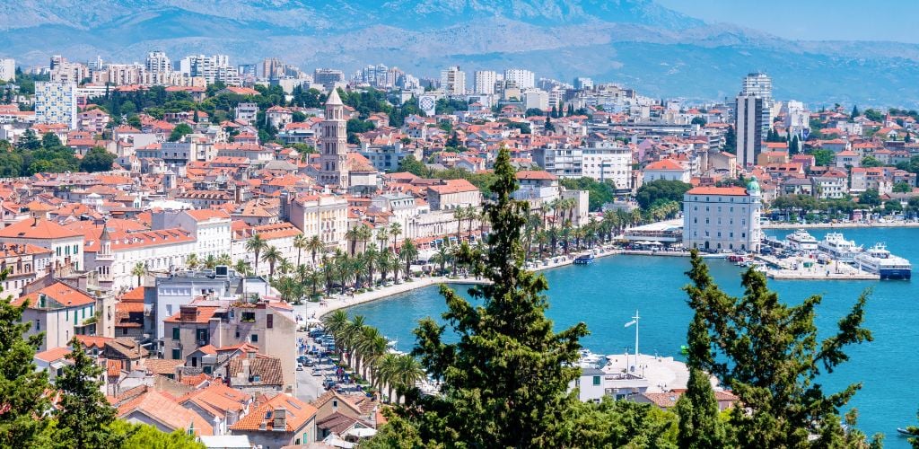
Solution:
M683 195L683 245L758 251L762 196L756 178L743 187L697 187Z

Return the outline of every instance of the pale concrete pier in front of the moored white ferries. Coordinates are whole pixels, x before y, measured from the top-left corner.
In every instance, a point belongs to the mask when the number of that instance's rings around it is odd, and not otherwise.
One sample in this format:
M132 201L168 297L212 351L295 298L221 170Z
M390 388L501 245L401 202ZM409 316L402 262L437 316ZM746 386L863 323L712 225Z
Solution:
M772 256L756 256L766 262L766 276L777 280L796 281L878 281L880 276L838 260L818 263L817 259L795 257L777 259Z

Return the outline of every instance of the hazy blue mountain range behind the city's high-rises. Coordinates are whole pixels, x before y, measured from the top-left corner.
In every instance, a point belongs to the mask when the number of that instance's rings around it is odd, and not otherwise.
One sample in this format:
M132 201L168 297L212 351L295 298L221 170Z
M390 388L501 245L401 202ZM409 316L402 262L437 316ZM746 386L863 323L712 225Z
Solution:
M919 105L919 45L783 40L651 0L20 0L0 4L0 41L24 63L142 61L161 49L430 76L518 66L692 99L732 97L743 75L765 70L777 97L814 106Z

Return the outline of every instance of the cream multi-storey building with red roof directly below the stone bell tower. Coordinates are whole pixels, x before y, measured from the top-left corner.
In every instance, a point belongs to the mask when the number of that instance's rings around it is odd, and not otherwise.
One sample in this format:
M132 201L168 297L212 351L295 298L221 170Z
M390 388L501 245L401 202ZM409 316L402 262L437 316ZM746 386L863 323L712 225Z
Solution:
M307 238L319 236L326 248L346 249L347 200L335 195L301 195L290 202L290 223Z

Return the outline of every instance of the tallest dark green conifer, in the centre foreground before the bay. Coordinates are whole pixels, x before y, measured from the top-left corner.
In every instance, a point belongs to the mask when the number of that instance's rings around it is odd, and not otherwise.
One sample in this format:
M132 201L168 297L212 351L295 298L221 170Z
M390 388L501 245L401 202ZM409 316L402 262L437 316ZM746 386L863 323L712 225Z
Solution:
M414 331L413 354L442 381L443 394L409 394L399 414L417 420L425 445L561 447L572 435L559 422L582 407L568 385L578 375L578 340L587 329L580 323L553 332L545 317L546 279L522 268L528 208L511 197L517 184L506 148L494 173L496 200L486 207L493 231L482 264L493 283L471 288L482 299L479 307L441 286L443 317L459 341L444 342L447 326L427 318Z

